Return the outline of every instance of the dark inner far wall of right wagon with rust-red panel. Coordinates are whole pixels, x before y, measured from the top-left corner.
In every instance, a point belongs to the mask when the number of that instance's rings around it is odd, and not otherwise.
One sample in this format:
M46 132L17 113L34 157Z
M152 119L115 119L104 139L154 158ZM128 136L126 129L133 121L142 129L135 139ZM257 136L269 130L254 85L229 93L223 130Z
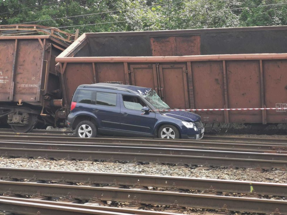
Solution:
M286 26L85 33L99 56L285 53ZM259 39L260 38L260 39Z

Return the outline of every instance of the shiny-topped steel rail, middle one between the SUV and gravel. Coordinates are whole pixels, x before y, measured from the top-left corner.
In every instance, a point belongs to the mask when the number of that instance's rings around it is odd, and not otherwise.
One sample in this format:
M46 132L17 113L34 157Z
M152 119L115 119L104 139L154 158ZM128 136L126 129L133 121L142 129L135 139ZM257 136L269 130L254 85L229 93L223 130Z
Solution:
M90 152L122 152L122 153L143 153L162 155L184 155L184 156L206 156L222 158L240 158L287 161L286 154L278 153L255 153L239 151L199 150L199 149L177 149L166 147L144 147L144 146L104 146L104 145L79 145L79 144L50 144L50 143L22 143L22 142L1 142L0 148L13 149L46 149L63 151L90 151Z

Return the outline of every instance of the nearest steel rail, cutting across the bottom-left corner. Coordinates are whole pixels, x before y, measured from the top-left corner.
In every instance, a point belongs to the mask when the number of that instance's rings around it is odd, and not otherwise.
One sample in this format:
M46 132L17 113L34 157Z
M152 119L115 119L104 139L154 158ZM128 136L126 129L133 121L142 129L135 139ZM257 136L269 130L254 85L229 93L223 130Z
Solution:
M100 211L94 209L84 209L71 207L72 205L58 206L53 204L41 204L36 202L23 202L11 199L0 199L0 210L8 211L15 214L40 214L41 215L82 215L82 214L97 214L97 215L126 215L113 211Z

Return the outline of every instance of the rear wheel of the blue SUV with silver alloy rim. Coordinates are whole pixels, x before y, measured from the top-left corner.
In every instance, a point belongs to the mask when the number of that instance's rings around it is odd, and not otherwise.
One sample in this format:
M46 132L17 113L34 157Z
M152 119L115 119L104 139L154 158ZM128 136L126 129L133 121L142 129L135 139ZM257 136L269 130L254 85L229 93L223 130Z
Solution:
M82 121L76 127L76 135L81 138L91 138L97 136L97 127L90 121Z

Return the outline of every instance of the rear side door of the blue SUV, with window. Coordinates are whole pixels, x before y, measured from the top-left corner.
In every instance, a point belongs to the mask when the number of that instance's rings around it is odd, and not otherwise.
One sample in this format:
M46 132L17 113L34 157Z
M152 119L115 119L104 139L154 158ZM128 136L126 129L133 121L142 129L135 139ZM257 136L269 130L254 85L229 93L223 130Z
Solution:
M95 91L96 92L96 91ZM97 91L91 111L97 117L99 129L120 129L119 94Z

